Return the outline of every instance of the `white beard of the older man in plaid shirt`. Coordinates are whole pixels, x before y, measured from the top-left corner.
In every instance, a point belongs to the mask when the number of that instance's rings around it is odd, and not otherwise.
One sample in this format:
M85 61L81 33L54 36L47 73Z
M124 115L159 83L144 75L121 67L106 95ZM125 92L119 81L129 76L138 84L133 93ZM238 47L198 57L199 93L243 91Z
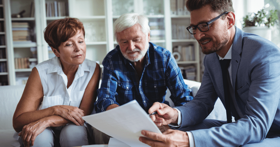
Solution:
M132 51L126 51L125 53L122 52L123 57L126 58L127 60L131 61L131 62L139 61L140 59L142 59L145 56L145 54L148 51L149 42L148 42L148 40L146 42L147 43L145 45L144 50L140 50L140 49L136 48L136 49L134 49ZM138 54L133 54L133 55L128 55L129 53L133 53L133 52L136 52L136 51L138 51L139 53Z

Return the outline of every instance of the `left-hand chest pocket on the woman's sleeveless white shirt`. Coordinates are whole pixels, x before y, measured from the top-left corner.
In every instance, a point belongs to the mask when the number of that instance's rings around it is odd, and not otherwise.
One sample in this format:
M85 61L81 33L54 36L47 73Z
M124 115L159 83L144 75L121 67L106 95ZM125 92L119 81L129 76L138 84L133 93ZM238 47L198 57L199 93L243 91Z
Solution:
M42 101L42 108L46 109L48 107L56 106L56 105L63 105L64 99L61 97L61 95L56 96L44 96Z

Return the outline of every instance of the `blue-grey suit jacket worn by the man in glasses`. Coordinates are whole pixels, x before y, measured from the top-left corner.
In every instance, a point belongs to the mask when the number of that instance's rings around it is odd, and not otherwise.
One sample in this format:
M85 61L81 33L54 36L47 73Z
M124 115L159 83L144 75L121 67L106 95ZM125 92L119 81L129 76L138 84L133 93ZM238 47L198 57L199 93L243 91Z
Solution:
M203 121L218 97L225 106L219 57L208 54L203 62L205 71L199 91L192 101L176 107L182 113L181 128ZM196 147L239 146L280 134L280 49L262 37L236 28L231 63L233 101L237 104L231 103L232 116L241 119L221 127L191 131Z

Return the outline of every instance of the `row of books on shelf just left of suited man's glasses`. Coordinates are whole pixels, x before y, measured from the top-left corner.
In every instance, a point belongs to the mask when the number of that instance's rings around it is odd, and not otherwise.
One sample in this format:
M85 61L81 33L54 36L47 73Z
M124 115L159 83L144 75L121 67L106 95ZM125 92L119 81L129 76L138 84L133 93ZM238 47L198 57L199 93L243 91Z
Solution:
M191 35L186 29L185 25L180 24L172 24L172 39L191 39L193 35Z

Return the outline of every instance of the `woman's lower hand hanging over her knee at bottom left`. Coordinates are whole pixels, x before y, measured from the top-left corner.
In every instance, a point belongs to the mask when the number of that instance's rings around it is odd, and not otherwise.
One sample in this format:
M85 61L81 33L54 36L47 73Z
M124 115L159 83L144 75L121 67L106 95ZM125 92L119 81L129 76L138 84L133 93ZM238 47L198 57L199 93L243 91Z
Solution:
M19 136L25 147L33 146L35 138L42 133L48 126L41 119L23 126ZM30 142L31 141L31 142Z

